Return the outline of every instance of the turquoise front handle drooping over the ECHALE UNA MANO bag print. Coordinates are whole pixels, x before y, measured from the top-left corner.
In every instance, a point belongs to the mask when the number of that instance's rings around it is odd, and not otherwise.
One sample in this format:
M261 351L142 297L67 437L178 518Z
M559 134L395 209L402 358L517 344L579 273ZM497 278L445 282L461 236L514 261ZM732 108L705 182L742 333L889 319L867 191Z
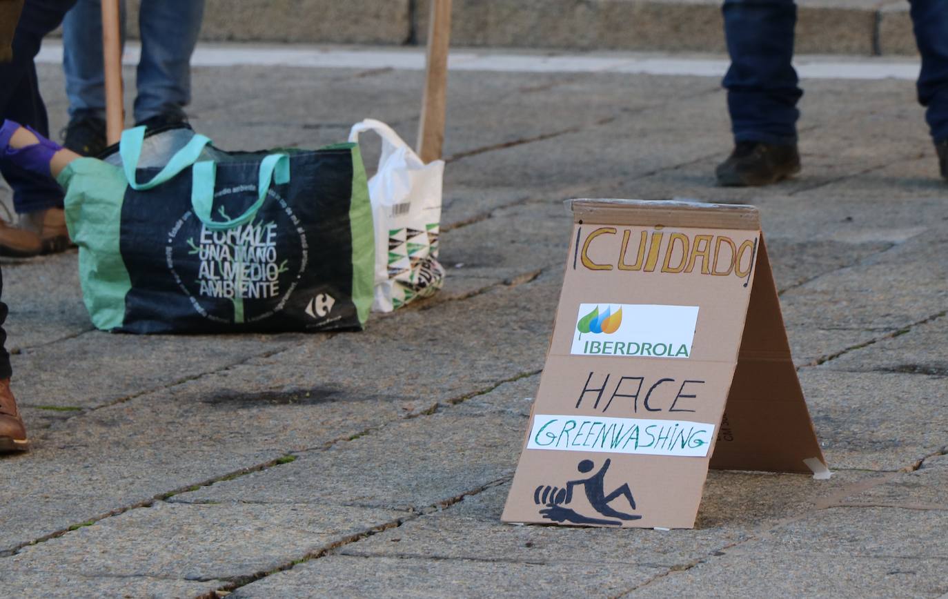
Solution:
M194 164L191 172L191 208L194 209L194 214L204 223L205 227L212 231L220 231L239 227L247 221L253 220L253 217L257 215L257 210L264 205L266 192L269 191L271 182L277 185L289 183L290 156L289 154L268 154L264 157L260 163L257 201L246 209L243 214L228 221L215 221L210 216L210 209L214 202L214 180L217 176L217 165L210 160L202 160Z

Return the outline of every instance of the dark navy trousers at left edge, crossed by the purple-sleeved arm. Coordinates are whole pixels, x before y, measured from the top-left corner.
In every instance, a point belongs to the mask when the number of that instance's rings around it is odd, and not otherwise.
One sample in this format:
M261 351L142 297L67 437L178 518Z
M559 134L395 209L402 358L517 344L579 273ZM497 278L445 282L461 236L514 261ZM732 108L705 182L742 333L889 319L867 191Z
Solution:
M43 37L59 27L75 2L27 0L13 36L13 60L0 63L0 121L9 118L49 136L46 106L40 96L33 59L40 51ZM27 172L6 160L0 160L0 173L13 189L13 207L17 212L63 206L63 190L52 179Z

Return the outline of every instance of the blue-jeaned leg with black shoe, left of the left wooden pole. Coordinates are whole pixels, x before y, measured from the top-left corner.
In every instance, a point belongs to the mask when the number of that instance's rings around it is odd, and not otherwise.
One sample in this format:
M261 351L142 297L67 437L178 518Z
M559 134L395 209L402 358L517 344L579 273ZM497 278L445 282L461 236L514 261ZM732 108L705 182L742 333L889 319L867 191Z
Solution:
M119 4L125 40L125 2ZM100 0L78 0L63 20L63 73L69 100L65 146L83 155L105 149L105 69Z

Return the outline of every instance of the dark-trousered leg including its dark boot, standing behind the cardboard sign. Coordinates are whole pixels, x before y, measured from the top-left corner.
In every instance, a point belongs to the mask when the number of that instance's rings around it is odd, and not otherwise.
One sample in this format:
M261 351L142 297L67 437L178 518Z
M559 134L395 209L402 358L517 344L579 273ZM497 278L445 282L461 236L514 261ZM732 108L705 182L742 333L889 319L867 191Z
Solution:
M719 167L725 185L763 185L799 171L793 69L793 0L725 0L731 66L724 76L735 154ZM755 175L748 177L747 175ZM723 176L722 176L723 175Z

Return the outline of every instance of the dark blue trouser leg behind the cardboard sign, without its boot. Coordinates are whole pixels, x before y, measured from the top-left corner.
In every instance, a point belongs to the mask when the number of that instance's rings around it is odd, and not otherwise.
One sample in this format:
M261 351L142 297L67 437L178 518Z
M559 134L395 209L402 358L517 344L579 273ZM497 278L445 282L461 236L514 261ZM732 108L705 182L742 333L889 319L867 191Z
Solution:
M936 2L942 0L934 0ZM735 141L796 142L793 0L725 0L724 33L731 67L724 76Z

